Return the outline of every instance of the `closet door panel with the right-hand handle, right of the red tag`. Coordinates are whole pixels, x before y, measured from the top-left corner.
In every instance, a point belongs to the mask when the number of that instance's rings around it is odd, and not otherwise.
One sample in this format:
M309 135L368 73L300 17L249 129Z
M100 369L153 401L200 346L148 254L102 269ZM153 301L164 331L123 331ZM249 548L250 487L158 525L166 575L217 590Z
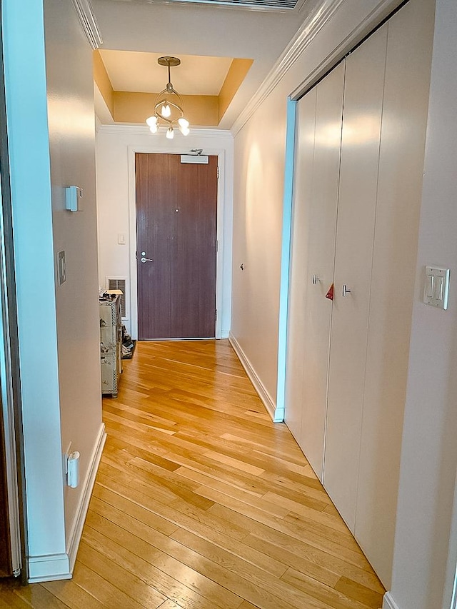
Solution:
M351 530L356 519L386 39L383 26L346 60L323 482ZM346 296L343 286L350 290Z

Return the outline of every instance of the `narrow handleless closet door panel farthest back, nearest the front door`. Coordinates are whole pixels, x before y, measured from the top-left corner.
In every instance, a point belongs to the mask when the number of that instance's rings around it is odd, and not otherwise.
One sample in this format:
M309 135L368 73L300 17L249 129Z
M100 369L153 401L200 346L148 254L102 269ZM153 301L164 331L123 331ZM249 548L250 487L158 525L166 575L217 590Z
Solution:
M298 444L301 443L303 413L303 348L305 337L306 275L310 203L313 181L316 89L297 104L295 183L289 276L288 337L286 362L285 421Z

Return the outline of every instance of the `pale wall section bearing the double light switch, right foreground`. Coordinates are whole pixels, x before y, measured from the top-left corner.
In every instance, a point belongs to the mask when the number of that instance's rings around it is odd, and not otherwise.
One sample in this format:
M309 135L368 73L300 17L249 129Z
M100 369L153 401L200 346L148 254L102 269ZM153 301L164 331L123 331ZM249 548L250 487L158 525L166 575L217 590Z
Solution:
M456 573L457 538L451 536L457 508L456 31L455 0L437 0L393 583L386 608L449 609ZM421 302L429 264L451 268L448 311Z

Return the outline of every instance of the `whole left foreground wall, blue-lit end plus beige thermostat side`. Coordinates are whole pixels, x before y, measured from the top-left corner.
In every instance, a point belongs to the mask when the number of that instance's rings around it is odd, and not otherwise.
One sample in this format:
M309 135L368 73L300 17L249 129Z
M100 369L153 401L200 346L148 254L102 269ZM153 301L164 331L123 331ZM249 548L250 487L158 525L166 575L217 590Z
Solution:
M43 580L70 576L103 436L91 48L71 0L44 2L46 49L41 2L3 10L29 569ZM79 214L64 211L72 183L85 190ZM56 287L61 249L67 281ZM81 453L76 489L62 466L70 441Z

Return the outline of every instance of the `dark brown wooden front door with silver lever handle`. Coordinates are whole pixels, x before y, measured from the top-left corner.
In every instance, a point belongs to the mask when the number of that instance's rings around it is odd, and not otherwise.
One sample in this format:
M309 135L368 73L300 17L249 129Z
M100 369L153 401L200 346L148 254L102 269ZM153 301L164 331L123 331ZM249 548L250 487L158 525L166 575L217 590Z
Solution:
M217 157L136 153L138 338L211 338L216 328Z

